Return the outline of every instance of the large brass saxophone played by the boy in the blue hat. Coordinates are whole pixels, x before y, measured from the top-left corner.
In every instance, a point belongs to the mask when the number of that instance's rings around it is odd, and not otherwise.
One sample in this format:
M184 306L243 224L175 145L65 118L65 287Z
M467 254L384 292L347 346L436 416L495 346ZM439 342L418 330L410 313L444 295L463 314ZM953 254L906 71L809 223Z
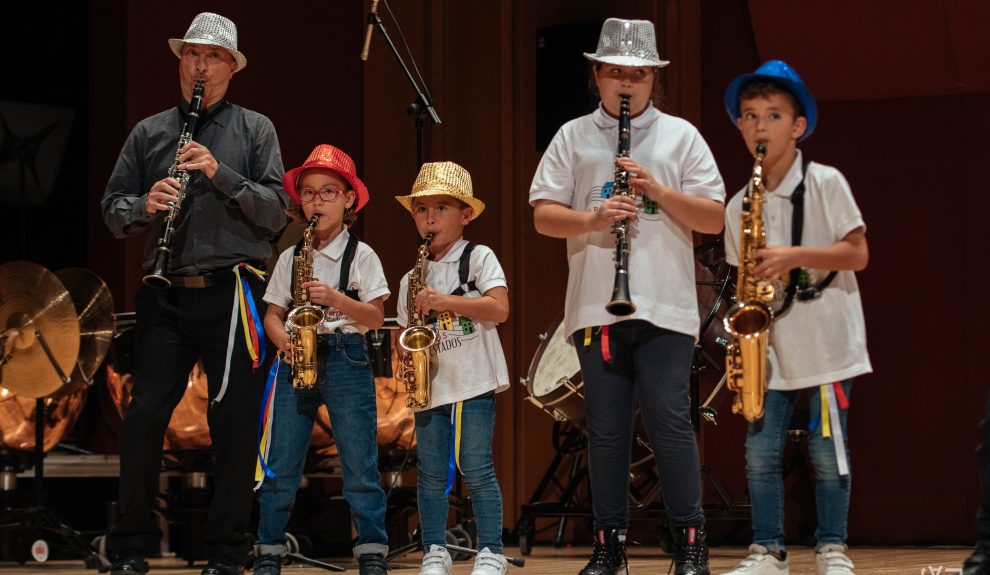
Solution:
M767 343L773 321L774 288L769 280L753 275L756 252L767 245L763 225L763 157L766 144L756 146L753 173L742 201L739 238L739 275L736 304L729 308L723 323L731 337L725 354L726 385L736 392L732 413L741 413L747 421L763 417L763 398L767 386Z

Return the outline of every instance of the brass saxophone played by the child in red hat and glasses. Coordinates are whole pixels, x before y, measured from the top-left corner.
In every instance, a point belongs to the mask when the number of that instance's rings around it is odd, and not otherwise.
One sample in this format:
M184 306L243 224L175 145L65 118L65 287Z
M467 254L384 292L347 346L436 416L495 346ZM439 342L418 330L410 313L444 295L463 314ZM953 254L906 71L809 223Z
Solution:
M303 232L302 247L293 256L292 311L289 312L289 342L292 344L292 387L310 388L316 385L319 362L316 357L317 329L326 317L318 305L309 300L309 290L302 284L313 281L313 230L320 216L313 216Z

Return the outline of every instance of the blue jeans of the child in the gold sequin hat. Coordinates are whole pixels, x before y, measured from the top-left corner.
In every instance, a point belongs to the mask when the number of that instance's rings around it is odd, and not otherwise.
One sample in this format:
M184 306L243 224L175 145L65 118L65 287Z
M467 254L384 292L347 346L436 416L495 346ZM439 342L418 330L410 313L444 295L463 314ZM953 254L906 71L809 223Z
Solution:
M502 491L492 461L495 393L463 402L460 473L471 490L471 508L478 527L478 549L502 552ZM446 546L447 464L450 461L450 410L441 405L416 413L416 468L419 470L419 523L423 548Z

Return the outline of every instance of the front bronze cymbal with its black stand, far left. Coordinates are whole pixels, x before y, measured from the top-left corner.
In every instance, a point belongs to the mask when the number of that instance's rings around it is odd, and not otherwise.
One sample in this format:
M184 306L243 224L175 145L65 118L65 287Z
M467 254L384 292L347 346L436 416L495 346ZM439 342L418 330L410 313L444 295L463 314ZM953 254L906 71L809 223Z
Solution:
M75 378L88 383L84 369L99 365L103 360L97 357L100 346L94 344L92 339L84 347L86 355L80 358L80 316L85 315L86 321L93 320L102 313L103 308L95 307L92 312L77 308L74 301L87 297L79 285L74 287L80 293L70 299L69 292L58 277L37 264L12 261L0 265L0 326L7 330L5 334L8 338L13 338L11 350L3 362L5 371L0 381L4 387L3 395L35 399L35 505L7 510L0 516L0 530L41 529L61 535L88 568L105 569L109 568L109 562L92 543L59 514L44 507L45 425L49 415L60 404L53 394ZM100 292L99 288L95 292ZM93 321L102 323L102 318ZM88 376L91 377L92 372ZM73 392L69 392L62 397L72 395ZM3 484L4 487L15 487L15 481L10 476L4 477Z

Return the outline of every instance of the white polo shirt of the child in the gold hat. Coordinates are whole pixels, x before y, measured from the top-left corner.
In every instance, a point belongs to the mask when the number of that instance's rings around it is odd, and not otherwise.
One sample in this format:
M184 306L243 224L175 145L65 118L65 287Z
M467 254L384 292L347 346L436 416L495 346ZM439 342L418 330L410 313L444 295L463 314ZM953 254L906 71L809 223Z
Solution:
M456 290L460 285L458 264L467 244L468 241L461 238L442 260L428 260L426 285L441 293ZM411 271L399 283L396 315L402 327L406 327L409 317L407 294ZM468 281L475 282L478 288L464 294L469 298L481 297L493 288L508 287L495 252L482 245L475 245L471 252ZM435 365L430 369L435 375L431 380L430 404L424 409L471 399L492 390L499 393L508 389L509 370L496 325L493 321L475 320L454 312L438 314L433 327L439 338L430 353L430 363Z

